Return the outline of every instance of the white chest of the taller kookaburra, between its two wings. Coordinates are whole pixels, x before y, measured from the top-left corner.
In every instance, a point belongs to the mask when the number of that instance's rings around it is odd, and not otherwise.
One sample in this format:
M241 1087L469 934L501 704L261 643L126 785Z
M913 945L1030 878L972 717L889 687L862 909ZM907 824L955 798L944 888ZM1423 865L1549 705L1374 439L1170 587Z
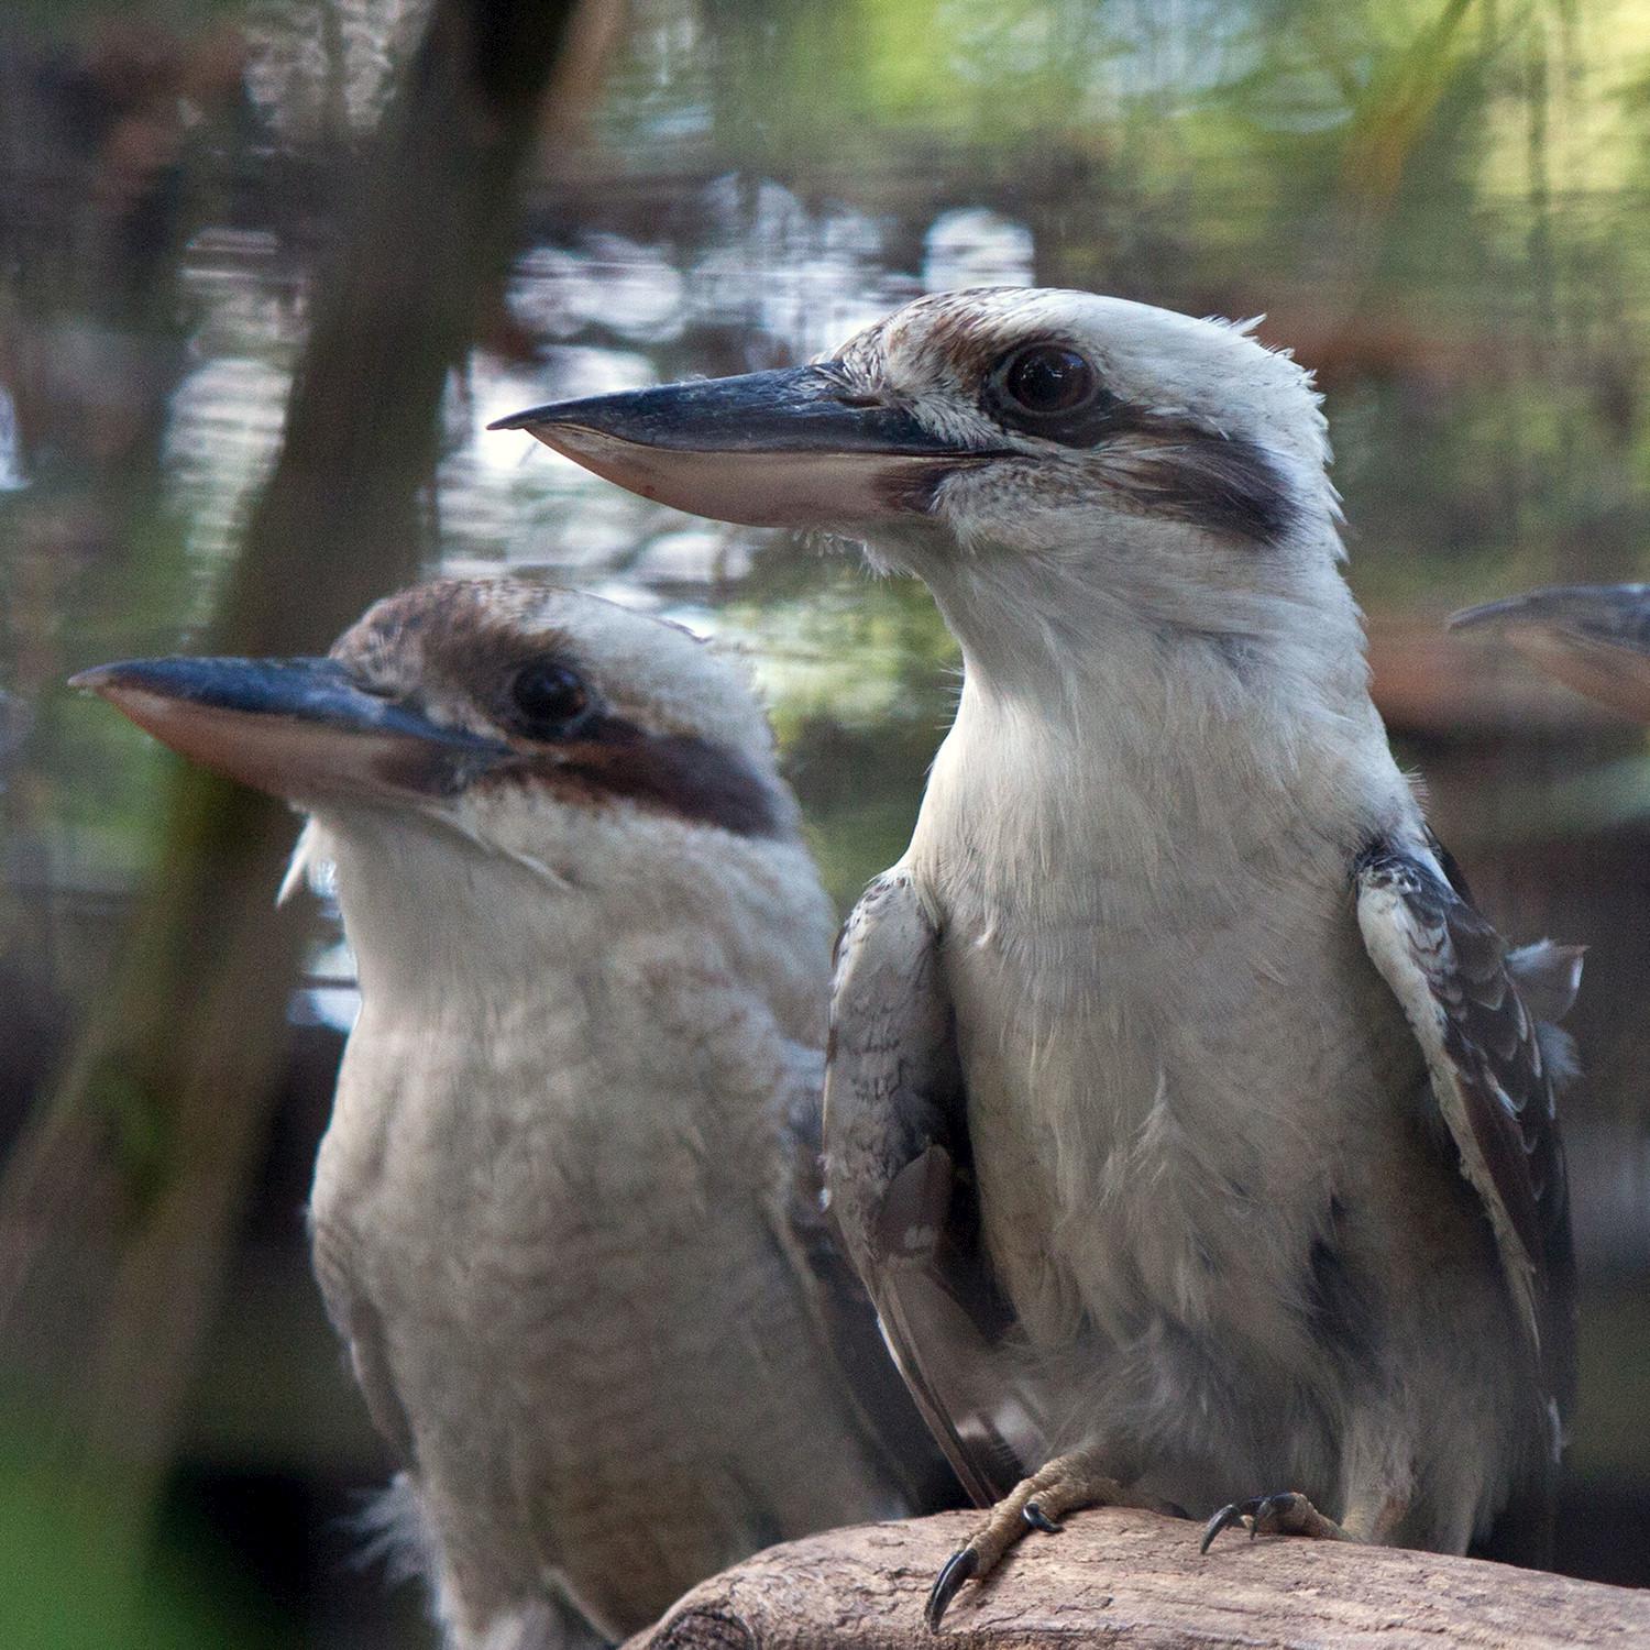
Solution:
M1310 764L1211 797L1206 766L1165 761L1147 787L1104 741L1068 759L1021 739L1018 784L982 802L982 756L1006 739L970 710L912 866L939 914L987 1246L1026 1335L1295 1333L1350 1143L1398 1125L1422 1069L1358 936L1358 812L1335 797L1320 825L1332 787ZM1412 807L1379 754L1371 830Z

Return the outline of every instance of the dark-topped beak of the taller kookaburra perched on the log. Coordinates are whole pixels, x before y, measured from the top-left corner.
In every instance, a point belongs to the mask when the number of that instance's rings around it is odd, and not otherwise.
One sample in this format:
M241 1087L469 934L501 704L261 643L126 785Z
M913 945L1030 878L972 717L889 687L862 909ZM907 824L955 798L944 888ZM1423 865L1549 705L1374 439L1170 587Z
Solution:
M851 531L924 508L944 474L992 457L818 366L553 401L488 427L525 429L644 498L746 526Z

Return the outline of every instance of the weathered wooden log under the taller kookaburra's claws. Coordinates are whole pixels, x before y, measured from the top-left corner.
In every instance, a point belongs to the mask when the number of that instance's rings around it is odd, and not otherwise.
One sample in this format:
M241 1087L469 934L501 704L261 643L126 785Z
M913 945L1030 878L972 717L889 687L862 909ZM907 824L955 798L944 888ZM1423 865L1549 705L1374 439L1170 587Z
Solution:
M1228 1534L1152 1513L1077 1513L1028 1536L940 1635L922 1600L972 1513L832 1530L701 1582L625 1650L1035 1650L1043 1645L1574 1650L1650 1645L1650 1592L1434 1553Z

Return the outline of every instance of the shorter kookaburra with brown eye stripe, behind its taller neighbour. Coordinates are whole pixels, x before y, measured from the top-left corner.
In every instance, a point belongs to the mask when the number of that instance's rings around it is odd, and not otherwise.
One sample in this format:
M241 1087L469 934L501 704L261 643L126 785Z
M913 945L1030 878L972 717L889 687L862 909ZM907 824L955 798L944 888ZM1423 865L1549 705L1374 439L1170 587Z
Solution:
M480 578L325 658L74 681L333 868L361 1006L314 1264L454 1650L622 1638L955 1503L822 1214L835 914L733 660Z

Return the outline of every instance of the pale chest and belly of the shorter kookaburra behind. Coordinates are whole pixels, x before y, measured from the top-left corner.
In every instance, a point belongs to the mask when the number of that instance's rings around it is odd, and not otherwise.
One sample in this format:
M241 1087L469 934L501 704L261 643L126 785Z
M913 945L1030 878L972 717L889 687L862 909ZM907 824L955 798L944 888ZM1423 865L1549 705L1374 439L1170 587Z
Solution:
M546 1577L622 1637L757 1546L899 1511L785 1224L823 934L497 865L403 922L368 898L384 856L340 846L365 1006L317 1272L464 1597Z

